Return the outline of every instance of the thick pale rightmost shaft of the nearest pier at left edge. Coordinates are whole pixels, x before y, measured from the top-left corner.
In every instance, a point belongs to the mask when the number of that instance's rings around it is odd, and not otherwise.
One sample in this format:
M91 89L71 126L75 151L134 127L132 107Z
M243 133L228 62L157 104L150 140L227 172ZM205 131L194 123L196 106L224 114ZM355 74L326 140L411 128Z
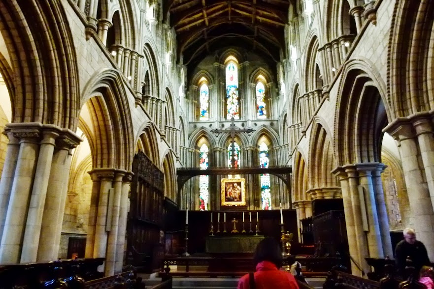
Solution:
M60 241L59 223L62 226L63 214L67 189L65 182L69 172L70 158L69 144L59 138L56 140L56 148L53 153L48 189L45 198L44 212L42 216L41 234L39 236L39 247L37 261L57 260ZM65 196L64 196L65 194ZM57 236L59 234L59 237Z

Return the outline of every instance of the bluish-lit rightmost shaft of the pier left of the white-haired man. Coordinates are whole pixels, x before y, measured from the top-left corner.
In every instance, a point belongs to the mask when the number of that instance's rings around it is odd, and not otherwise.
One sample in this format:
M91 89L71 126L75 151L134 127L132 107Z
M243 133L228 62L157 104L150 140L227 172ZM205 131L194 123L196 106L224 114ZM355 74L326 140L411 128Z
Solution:
M381 173L384 172L384 169L385 166L383 164L378 164L377 168L372 171L372 185L375 193L384 257L392 257L393 248L392 241L390 240L389 216L387 214L386 201L384 200L383 181L381 180Z

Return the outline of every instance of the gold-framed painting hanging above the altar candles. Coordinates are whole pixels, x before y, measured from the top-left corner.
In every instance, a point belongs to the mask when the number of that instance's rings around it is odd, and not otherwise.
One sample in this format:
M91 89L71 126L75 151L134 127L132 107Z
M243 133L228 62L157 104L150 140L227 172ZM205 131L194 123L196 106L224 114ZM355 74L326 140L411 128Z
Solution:
M222 179L222 206L245 206L245 178Z

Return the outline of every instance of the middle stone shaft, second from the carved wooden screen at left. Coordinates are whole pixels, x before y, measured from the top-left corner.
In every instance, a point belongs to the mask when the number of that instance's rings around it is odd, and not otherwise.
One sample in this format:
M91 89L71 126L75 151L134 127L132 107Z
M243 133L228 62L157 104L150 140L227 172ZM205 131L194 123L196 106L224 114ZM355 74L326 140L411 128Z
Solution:
M120 206L121 206L121 196L122 196L122 179L125 175L125 171L117 170L113 181L113 196L110 198L113 200L112 207L108 209L111 210L111 228L108 232L108 244L107 253L105 256L105 276L112 276L115 273L115 262L116 262L116 249L118 244L118 229L119 229L119 216L120 216ZM121 270L122 271L122 270Z

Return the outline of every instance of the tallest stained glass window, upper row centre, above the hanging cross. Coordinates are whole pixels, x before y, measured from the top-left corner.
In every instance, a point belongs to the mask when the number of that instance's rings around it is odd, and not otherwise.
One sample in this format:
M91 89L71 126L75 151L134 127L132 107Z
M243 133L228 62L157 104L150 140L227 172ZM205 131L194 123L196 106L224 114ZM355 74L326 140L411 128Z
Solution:
M234 62L226 66L226 119L239 119L238 105L238 68Z

